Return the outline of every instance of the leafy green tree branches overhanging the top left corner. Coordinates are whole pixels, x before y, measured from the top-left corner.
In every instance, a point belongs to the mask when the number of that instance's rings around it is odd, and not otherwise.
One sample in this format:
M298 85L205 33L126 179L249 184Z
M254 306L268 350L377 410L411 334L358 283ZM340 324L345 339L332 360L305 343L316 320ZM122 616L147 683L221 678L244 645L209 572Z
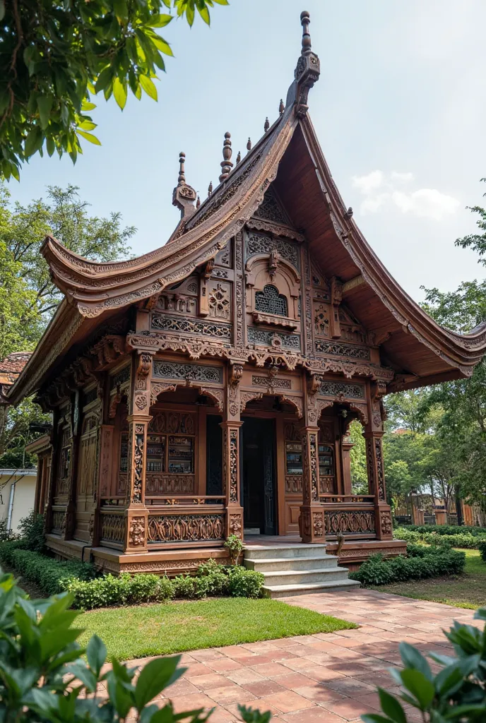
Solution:
M0 173L20 177L35 153L75 162L92 131L93 96L157 100L153 79L173 52L159 35L228 0L0 0ZM167 12L169 11L169 12Z

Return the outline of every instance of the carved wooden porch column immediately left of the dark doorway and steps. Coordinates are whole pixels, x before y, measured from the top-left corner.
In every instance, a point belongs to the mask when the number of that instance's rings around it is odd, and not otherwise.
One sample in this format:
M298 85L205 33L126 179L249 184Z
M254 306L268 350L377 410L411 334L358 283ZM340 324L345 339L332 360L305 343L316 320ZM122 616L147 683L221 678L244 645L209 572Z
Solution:
M226 497L226 537L236 535L243 539L243 508L240 500L239 435L241 400L239 380L243 375L241 364L231 364L226 382L226 403L223 410L223 495Z

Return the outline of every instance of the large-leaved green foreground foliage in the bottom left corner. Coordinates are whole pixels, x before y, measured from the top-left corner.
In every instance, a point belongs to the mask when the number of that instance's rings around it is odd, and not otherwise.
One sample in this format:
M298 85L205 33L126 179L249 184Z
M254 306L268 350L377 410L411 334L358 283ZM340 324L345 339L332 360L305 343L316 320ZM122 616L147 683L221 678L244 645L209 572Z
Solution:
M0 719L3 723L115 723L136 711L137 723L204 723L211 711L174 713L150 701L179 678L180 656L150 661L135 683L135 668L116 659L105 669L106 646L98 636L85 649L72 596L30 601L0 570ZM82 655L86 654L86 660ZM103 672L102 672L103 671ZM97 697L98 683L108 697ZM269 714L240 709L246 723L268 723Z

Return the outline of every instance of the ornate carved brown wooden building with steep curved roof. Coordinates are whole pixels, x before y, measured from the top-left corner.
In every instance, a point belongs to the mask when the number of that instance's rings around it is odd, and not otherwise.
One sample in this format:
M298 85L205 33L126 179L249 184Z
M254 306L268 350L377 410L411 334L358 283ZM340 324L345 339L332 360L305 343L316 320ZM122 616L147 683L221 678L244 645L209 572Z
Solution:
M98 263L43 244L64 300L8 400L35 393L54 415L36 500L62 557L171 572L223 557L244 529L331 550L341 532L349 562L403 551L383 395L471 375L486 332L440 328L354 223L307 110L320 64L301 19L278 119L235 164L226 133L202 203L181 154L165 245ZM354 419L367 495L351 488Z

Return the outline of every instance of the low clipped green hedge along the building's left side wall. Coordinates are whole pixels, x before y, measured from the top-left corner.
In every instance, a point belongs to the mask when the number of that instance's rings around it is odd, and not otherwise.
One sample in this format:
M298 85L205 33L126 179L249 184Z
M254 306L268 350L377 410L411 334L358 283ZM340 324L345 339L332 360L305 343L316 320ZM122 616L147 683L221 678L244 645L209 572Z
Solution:
M1 552L4 553L5 545L11 544L14 543L1 544ZM26 582L38 586L46 595L55 595L64 591L67 589L67 583L73 578L88 581L95 576L95 569L88 562L79 562L78 560L59 562L52 557L41 555L39 552L32 552L19 547L13 549L10 557L12 560L11 566L17 570L17 573ZM7 562L7 564L9 563Z

